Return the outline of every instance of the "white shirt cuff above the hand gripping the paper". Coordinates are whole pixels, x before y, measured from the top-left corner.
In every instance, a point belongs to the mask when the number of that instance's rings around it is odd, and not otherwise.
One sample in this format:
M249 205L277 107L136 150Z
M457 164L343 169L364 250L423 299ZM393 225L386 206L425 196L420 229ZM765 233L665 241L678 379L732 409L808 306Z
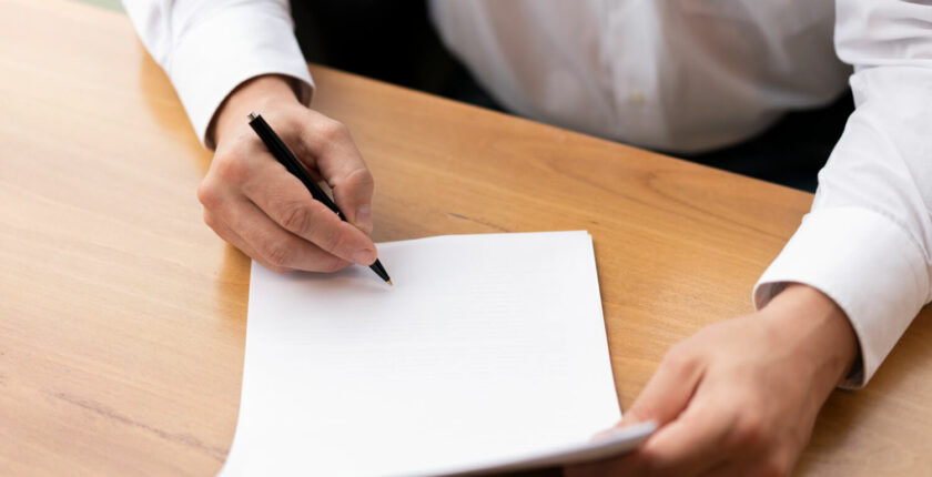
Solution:
M919 245L894 221L867 209L827 207L797 233L754 286L760 309L788 283L812 286L848 315L861 348L841 385L863 387L929 300Z

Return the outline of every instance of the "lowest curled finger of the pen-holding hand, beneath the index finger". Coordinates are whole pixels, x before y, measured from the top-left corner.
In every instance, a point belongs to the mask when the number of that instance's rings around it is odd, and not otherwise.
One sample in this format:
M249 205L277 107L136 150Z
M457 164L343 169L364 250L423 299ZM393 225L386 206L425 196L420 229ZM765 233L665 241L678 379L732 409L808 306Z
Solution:
M234 201L235 204L219 212L220 220L236 231L253 251L253 258L271 270L335 272L350 265L348 262L282 229L246 199Z

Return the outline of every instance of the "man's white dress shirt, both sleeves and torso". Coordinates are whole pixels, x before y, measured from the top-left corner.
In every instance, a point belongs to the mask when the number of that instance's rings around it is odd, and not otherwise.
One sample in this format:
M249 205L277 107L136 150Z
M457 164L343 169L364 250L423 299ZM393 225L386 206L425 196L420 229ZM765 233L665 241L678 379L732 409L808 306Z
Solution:
M338 0L336 0L338 1ZM286 0L124 0L197 135L237 84L313 82ZM434 0L444 42L510 110L667 151L736 143L789 110L854 92L812 211L754 287L789 282L839 304L874 374L932 274L929 0ZM834 30L834 43L832 32ZM361 34L363 34L361 32ZM852 74L853 67L853 74Z

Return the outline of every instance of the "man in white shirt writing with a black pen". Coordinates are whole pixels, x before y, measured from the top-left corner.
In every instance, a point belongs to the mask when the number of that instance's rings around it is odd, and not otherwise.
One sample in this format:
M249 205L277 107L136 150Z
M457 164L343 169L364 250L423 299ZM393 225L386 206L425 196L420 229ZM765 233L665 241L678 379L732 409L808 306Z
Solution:
M788 474L834 386L863 386L930 301L930 1L430 7L445 43L508 109L668 151L739 142L831 100L850 75L857 110L812 212L756 286L758 312L668 352L621 423L660 423L637 453L570 469ZM313 83L287 2L126 0L126 9L216 149L197 191L205 222L276 271L372 263L373 177L346 129L306 108ZM243 120L253 110L328 182L350 223L271 158Z

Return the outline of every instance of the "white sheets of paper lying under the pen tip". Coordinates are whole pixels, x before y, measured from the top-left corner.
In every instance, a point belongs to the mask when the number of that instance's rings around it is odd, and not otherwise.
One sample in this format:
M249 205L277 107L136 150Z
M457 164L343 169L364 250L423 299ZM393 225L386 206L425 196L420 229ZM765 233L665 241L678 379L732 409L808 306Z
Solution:
M395 286L361 266L276 275L253 263L223 475L439 475L598 450L591 436L621 414L586 232L378 251Z

